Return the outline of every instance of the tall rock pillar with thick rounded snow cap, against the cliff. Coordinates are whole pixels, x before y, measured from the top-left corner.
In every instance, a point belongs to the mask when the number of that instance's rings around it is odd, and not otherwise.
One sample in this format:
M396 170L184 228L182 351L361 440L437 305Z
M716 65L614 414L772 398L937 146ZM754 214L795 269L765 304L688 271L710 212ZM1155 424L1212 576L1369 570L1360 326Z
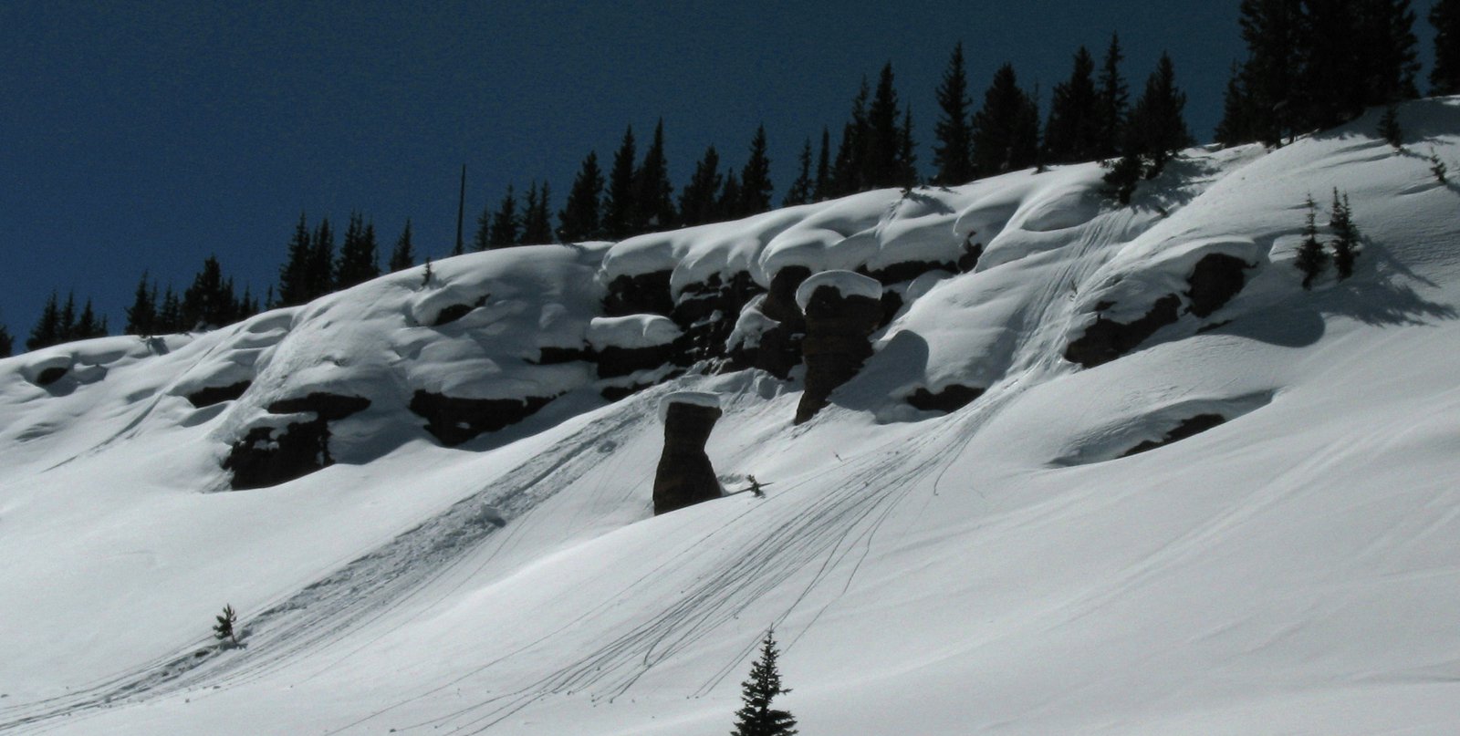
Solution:
M882 285L860 273L832 270L806 279L796 289L806 314L806 391L796 407L796 423L816 416L831 391L850 381L872 356L867 340L882 321Z

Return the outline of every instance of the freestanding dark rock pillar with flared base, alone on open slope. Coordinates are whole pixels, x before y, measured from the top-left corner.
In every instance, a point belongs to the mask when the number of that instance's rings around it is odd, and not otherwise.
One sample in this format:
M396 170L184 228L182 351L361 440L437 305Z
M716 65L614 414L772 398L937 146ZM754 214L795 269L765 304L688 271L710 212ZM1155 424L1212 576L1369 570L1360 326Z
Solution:
M664 412L664 453L654 473L654 514L720 498L720 480L705 454L720 409L670 403Z

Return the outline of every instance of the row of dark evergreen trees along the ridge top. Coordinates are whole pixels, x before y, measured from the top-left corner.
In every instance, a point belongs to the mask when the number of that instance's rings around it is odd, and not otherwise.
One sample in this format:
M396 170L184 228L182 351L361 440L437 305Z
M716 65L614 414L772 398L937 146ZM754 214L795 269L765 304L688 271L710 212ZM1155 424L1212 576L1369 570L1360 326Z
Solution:
M1241 0L1240 25L1247 57L1235 63L1223 95L1216 140L1222 145L1283 145L1296 134L1333 127L1365 108L1418 96L1416 18L1409 0ZM1428 15L1435 28L1435 64L1429 91L1460 93L1460 0L1438 0ZM1342 42L1339 39L1343 39ZM1186 93L1171 57L1162 54L1132 102L1123 76L1124 51L1113 35L1096 63L1080 47L1070 74L1050 91L1050 110L1040 110L1038 88L1021 85L1012 64L994 70L983 98L969 95L962 44L953 47L936 89L931 172L926 183L956 185L1007 171L1083 161L1108 168L1110 194L1129 203L1140 181L1164 171L1175 152L1191 145L1184 121ZM975 102L978 107L975 110ZM1388 117L1386 137L1397 136ZM533 181L518 202L515 187L488 203L476 221L474 250L553 241L622 239L645 232L702 225L856 194L873 188L910 188L924 181L917 166L911 105L901 101L892 64L876 85L863 77L851 110L834 139L832 129L804 139L797 177L778 204L771 181L765 126L758 126L743 164L721 159L711 145L695 162L689 181L676 187L664 153L664 124L656 124L644 155L629 126L609 169L588 152L553 213L548 181ZM556 215L556 226L553 225ZM466 245L458 239L453 254ZM396 241L385 270L416 263L410 222ZM258 301L234 291L216 258L209 257L182 294L143 275L126 331L153 334L222 326L260 308L308 302L381 273L372 222L352 213L336 250L328 219L312 228L299 216L288 242L277 286ZM26 340L28 349L105 334L105 318L85 323L86 307L67 307L51 295ZM0 326L0 355L12 336Z

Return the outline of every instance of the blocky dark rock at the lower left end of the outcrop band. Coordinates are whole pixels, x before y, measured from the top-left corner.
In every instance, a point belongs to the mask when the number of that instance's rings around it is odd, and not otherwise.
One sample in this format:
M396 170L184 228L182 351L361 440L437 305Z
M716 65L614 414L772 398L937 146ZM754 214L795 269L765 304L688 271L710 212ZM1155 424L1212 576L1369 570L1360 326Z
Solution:
M279 485L331 464L330 425L318 418L283 429L256 426L223 459L235 491Z

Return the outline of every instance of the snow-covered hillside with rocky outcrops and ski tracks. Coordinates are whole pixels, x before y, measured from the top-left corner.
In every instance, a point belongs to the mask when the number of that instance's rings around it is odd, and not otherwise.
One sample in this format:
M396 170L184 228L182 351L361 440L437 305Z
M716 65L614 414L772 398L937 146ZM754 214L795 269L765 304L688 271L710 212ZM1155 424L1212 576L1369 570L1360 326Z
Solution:
M0 732L717 735L772 625L806 736L1460 732L1460 98L1400 121L0 361ZM724 495L656 515L676 391Z

